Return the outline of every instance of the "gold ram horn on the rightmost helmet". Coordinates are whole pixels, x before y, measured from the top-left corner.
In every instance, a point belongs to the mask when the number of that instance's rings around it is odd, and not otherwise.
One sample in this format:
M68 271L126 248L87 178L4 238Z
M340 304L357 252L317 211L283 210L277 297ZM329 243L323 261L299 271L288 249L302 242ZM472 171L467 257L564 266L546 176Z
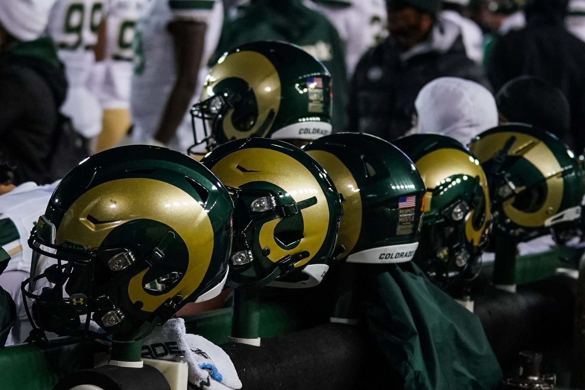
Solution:
M470 144L469 148L480 161L487 161L498 153L511 137L516 137L516 140L508 151L508 156L524 157L530 161L544 176L547 195L542 207L535 212L523 212L512 206L514 196L503 202L503 209L506 216L519 226L541 227L546 219L559 212L564 189L563 177L559 175L561 171L559 161L548 146L528 134L501 132L488 134L481 140ZM497 191L497 188L494 190ZM516 192L519 192L518 189Z

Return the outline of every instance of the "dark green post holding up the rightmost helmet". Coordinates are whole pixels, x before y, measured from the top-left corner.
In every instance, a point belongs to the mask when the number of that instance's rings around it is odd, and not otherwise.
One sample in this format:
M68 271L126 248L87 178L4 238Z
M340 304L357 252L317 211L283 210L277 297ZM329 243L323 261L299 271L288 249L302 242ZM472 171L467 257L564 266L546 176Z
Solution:
M492 281L494 287L516 292L516 251L518 240L509 236L494 236L495 260Z

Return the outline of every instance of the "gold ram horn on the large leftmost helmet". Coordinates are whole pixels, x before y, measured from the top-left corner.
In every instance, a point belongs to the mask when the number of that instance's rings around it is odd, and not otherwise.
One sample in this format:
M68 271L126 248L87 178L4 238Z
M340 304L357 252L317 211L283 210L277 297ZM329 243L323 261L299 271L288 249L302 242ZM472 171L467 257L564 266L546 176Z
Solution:
M94 224L87 219L88 215L105 223ZM154 312L168 298L190 296L201 284L211 261L214 249L211 220L187 192L167 182L147 178L119 179L97 185L67 210L57 230L56 244L68 241L83 243L87 249L98 248L115 227L137 218L156 220L172 227L185 241L191 259L183 279L166 294L152 295L144 290L143 276L149 268L130 280L130 300L142 301L142 310Z

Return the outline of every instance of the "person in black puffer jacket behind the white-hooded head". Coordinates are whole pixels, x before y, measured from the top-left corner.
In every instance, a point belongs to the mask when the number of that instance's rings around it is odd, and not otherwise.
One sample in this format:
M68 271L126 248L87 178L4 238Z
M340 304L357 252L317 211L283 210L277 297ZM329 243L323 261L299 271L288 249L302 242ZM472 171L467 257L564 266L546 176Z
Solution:
M390 36L364 54L353 77L349 128L392 141L411 129L414 101L429 81L490 84L467 58L459 26L438 16L441 0L387 0L387 8Z

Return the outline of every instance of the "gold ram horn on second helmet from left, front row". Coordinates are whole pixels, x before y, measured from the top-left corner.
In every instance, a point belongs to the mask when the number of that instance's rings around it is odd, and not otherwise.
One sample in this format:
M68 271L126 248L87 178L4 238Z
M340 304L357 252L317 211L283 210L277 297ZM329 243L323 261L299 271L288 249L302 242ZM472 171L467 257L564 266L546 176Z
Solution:
M242 172L238 165L245 168ZM321 249L329 230L329 206L325 194L314 175L300 162L280 151L262 148L236 150L219 160L211 171L229 187L240 187L253 181L266 181L284 189L296 202L317 198L317 203L301 210L304 225L304 238L295 247L294 253L308 251L309 257L295 264L301 267L308 263ZM260 246L270 248L268 258L278 261L290 254L291 250L282 249L274 239L274 228L282 218L265 223L260 229Z

